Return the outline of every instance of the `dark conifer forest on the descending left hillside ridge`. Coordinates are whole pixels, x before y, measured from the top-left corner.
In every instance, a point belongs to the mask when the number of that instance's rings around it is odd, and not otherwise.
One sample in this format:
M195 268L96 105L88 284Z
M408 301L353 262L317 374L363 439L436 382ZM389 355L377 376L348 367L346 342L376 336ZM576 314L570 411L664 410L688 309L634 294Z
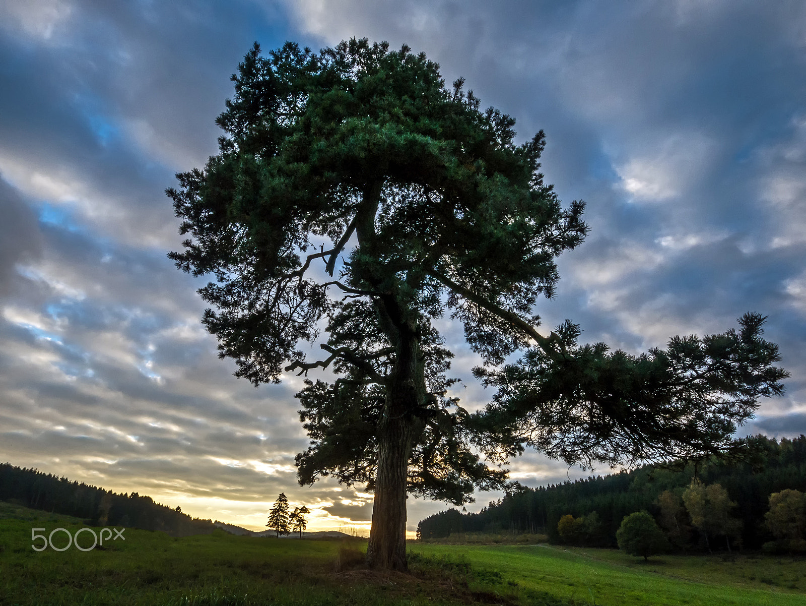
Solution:
M89 525L162 530L172 536L212 533L213 520L192 518L136 492L114 493L35 469L0 463L0 500L82 518Z

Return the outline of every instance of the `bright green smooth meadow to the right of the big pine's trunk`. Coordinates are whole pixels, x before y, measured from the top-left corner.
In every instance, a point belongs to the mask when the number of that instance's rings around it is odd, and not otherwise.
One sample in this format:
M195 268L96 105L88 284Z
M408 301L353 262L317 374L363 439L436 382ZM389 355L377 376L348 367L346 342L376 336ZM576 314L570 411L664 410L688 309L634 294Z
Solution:
M614 550L546 545L422 545L415 553L466 558L521 589L595 604L806 604L806 566L791 558L664 556L644 564ZM762 580L763 579L763 580ZM778 579L784 587L764 581ZM796 580L797 579L797 580ZM796 589L787 587L792 585Z

